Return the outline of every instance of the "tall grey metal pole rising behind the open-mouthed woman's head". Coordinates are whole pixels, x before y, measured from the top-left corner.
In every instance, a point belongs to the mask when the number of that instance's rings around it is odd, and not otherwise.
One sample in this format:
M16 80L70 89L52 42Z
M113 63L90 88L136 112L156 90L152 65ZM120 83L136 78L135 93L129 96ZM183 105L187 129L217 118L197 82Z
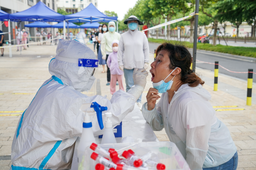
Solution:
M199 12L199 0L196 0L195 1L195 23L194 23L193 59L192 59L192 70L193 70L194 73L195 73L195 61L196 61L198 12Z

